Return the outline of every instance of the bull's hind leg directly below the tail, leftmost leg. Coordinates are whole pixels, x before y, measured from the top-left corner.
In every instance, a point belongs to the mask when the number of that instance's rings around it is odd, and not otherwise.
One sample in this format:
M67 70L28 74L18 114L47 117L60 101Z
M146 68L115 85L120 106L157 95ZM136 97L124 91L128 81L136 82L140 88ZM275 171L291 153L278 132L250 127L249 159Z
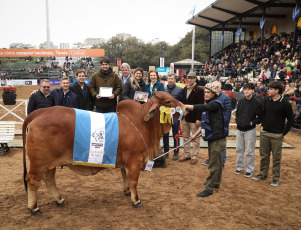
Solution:
M41 178L30 170L26 176L26 181L28 187L28 209L33 215L41 215L42 213L37 205L37 194Z

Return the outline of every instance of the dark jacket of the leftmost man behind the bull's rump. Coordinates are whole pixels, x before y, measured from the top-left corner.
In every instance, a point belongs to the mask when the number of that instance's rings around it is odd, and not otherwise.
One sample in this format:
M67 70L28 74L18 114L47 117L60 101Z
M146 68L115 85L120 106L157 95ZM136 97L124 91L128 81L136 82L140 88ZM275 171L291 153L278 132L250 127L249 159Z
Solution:
M29 115L32 111L40 108L48 108L54 105L53 94L50 94L46 97L41 90L32 94L29 98L27 106L27 114Z

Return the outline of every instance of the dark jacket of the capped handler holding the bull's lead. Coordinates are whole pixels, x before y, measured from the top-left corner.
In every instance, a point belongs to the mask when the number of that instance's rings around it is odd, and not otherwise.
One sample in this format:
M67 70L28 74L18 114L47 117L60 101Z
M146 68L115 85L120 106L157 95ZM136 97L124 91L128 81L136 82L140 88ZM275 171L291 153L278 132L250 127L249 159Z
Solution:
M209 129L208 131L212 134L212 138L210 138L208 141L221 139L226 136L225 129L229 129L229 126L225 126L223 105L219 100L217 100L217 97L207 101L205 105L194 105L193 111L203 113L201 124L202 129L204 124L207 123L209 119L209 126L211 130ZM205 134L205 137L206 136L208 136L208 134ZM204 138L204 140L206 139Z

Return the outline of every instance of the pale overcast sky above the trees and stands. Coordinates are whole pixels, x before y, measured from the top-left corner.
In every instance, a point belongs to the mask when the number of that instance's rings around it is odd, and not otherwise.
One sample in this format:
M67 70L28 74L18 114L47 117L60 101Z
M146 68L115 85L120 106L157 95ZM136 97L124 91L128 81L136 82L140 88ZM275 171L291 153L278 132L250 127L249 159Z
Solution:
M144 42L176 44L195 14L215 0L48 0L50 40L58 45L131 34ZM46 0L0 0L0 48L11 43L38 45L47 40Z

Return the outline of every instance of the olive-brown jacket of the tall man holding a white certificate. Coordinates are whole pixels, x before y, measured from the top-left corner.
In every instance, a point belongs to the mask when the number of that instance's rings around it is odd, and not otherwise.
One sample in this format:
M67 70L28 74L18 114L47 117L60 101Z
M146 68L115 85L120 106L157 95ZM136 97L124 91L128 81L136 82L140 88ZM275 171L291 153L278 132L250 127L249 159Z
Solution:
M112 69L109 69L108 73L103 73L101 70L96 72L91 77L89 84L90 93L93 98L99 94L99 87L112 87L114 99L108 97L102 97L99 100L95 99L95 105L101 108L113 107L117 105L117 96L121 92L121 82L117 74Z

